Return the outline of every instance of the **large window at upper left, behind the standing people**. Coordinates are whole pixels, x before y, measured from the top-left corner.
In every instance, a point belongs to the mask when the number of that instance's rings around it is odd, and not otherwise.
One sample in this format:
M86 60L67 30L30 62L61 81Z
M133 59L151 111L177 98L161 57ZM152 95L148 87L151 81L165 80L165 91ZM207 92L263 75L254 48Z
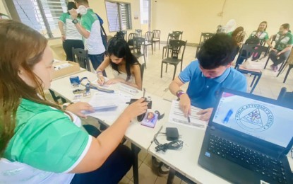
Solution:
M61 36L58 19L61 13L67 11L66 0L6 0L6 4L16 8L22 23L39 31L46 38Z

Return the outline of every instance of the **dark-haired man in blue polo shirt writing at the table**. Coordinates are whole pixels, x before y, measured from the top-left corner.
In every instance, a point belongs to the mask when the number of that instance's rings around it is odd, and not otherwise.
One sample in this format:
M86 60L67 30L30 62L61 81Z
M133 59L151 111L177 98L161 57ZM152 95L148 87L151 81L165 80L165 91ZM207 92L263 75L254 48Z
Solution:
M220 88L229 88L246 92L246 77L231 68L235 57L232 38L219 33L206 40L193 61L181 71L169 85L171 93L176 95L184 114L190 115L191 105L203 110L198 112L201 120L208 121L216 103ZM186 93L180 86L189 82Z

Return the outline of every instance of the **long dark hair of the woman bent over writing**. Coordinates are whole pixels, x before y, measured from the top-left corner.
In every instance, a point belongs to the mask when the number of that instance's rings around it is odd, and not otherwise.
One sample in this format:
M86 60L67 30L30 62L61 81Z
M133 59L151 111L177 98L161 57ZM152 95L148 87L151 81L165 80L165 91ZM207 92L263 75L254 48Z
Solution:
M133 66L134 64L139 64L138 59L136 59L136 57L133 56L133 54L131 53L131 50L129 49L127 42L124 40L123 35L121 36L120 34L115 35L113 38L111 38L111 40L109 40L109 45L107 48L107 55L114 55L116 57L119 58L124 58L126 61L126 73L127 73L127 78L126 81L128 81L129 79L131 79L131 66ZM115 64L114 62L112 62L112 60L110 59L110 64L112 69L114 69L115 71L117 71L119 74L121 74L121 72L118 69L118 64Z

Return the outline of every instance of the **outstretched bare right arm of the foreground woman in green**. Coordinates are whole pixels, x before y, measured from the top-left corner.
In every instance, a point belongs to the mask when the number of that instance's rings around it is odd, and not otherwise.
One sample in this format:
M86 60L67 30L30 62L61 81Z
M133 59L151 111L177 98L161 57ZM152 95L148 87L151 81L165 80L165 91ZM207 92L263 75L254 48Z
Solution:
M143 100L140 98L129 105L113 125L104 130L97 138L92 137L88 152L70 173L86 173L100 168L121 142L131 119L145 113L148 109L148 103Z

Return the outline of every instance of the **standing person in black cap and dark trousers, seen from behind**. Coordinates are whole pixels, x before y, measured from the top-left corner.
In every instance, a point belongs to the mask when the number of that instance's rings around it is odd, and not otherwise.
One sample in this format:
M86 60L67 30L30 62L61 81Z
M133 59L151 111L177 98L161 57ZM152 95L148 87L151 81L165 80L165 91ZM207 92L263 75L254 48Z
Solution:
M62 13L58 21L59 30L61 33L61 40L63 42L63 48L66 53L66 61L71 62L73 61L72 47L75 49L85 48L85 46L83 45L83 38L80 33L78 33L76 26L72 23L72 18L69 13L69 10L74 8L76 8L74 2L68 2L68 12ZM80 17L78 17L77 19L80 22Z

